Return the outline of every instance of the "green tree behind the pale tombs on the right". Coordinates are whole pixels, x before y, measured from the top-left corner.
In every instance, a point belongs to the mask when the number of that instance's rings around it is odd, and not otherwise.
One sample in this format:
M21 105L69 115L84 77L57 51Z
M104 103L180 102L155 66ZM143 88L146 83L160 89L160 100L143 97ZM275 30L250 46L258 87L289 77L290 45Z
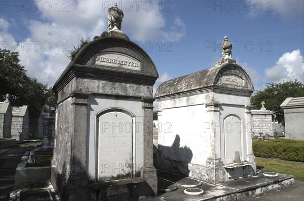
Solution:
M265 102L265 108L277 115L277 121L284 125L284 112L280 105L287 97L303 97L304 85L298 79L294 81L283 81L283 83L268 83L263 91L257 91L251 97L252 109L261 108L261 102Z

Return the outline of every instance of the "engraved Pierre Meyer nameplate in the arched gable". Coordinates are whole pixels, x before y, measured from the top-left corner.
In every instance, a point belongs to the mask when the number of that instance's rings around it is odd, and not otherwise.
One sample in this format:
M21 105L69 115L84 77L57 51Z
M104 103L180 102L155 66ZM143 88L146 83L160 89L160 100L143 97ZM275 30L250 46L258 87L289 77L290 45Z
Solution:
M140 70L140 62L127 55L119 53L107 53L96 57L95 64L103 66L122 67Z

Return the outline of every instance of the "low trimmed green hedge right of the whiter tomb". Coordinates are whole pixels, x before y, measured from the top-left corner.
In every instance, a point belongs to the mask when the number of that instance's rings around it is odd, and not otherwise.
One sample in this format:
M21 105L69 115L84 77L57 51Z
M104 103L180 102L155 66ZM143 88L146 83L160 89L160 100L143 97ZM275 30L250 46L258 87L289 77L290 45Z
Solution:
M252 141L256 157L304 162L304 141L293 139L272 139Z

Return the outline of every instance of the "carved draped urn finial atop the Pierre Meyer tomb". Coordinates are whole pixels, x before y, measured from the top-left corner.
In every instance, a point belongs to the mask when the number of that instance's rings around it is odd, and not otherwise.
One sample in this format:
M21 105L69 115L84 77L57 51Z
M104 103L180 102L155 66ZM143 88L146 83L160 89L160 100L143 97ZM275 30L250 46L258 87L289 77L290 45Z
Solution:
M108 28L109 31L115 31L122 33L122 21L124 13L115 4L114 7L108 9Z

